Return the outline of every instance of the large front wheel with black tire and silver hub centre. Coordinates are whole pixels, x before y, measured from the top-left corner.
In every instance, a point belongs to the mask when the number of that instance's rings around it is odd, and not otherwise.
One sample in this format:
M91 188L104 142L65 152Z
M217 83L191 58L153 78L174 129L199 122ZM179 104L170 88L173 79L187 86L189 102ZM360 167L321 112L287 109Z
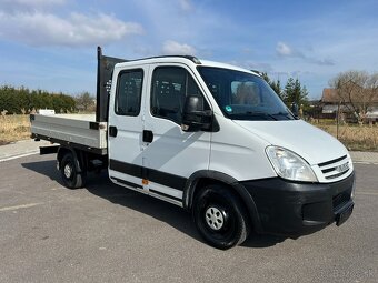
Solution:
M245 208L226 186L203 188L195 198L192 213L200 235L217 249L230 249L248 237Z

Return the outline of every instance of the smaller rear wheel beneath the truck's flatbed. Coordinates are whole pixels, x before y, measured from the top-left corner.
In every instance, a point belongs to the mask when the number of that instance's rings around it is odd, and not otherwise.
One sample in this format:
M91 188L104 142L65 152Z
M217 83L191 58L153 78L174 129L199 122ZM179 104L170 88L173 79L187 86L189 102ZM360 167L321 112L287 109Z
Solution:
M60 172L63 183L69 189L78 189L84 185L86 173L78 173L77 160L71 152L64 154L60 162Z

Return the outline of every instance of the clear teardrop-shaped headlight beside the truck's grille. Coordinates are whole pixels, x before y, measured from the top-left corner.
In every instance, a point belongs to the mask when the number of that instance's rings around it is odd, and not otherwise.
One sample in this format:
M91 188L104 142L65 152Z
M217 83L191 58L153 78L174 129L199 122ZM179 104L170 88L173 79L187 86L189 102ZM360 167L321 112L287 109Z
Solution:
M310 165L292 151L279 146L268 146L266 151L279 176L292 181L318 181Z

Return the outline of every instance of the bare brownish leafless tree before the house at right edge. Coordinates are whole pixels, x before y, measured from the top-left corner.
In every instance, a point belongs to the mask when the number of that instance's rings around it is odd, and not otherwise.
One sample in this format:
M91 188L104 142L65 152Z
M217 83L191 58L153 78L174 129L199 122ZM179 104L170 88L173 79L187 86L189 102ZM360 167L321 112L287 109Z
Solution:
M340 102L362 122L366 113L378 102L378 73L347 71L330 80Z

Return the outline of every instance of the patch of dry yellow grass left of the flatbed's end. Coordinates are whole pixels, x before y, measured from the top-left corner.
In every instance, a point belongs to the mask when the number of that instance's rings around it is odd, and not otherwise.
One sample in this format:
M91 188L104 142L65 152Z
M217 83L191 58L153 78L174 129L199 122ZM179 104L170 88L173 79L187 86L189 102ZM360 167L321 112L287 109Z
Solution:
M0 115L0 145L29 138L29 115Z

